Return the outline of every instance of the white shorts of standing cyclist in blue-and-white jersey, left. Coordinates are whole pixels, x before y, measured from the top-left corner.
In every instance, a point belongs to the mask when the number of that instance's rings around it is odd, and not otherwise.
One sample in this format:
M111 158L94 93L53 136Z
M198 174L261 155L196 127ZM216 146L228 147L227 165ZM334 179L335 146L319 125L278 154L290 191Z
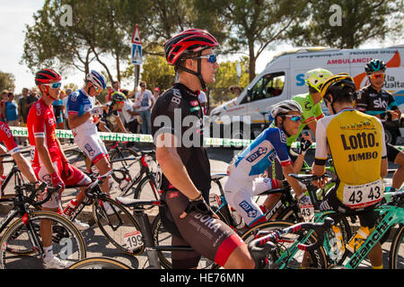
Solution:
M100 135L96 133L89 133L85 136L75 136L75 144L92 160L93 164L105 157L108 158L108 151L105 144L102 142Z

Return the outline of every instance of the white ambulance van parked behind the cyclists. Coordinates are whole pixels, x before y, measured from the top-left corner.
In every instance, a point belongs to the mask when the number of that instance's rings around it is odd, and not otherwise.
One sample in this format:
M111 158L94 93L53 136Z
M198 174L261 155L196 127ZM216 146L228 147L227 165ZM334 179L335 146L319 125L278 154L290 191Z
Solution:
M373 58L386 63L384 89L393 94L404 111L404 45L372 49L297 48L274 57L237 98L213 109L207 119L210 135L232 138L259 135L266 123L262 112L279 101L308 92L304 74L314 68L325 68L333 74L348 73L356 87L362 88L369 84L364 65ZM324 106L323 111L328 114ZM217 130L221 130L220 135Z

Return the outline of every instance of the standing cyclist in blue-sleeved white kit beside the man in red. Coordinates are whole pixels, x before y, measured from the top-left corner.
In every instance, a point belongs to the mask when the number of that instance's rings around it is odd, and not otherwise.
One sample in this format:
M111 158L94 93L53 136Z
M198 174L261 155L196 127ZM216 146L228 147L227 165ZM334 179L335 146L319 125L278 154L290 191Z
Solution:
M108 151L102 142L94 123L94 117L101 117L104 108L95 106L94 97L107 87L104 77L91 71L86 76L82 90L75 91L67 100L69 126L75 137L75 143L85 153L92 163L100 170L101 175L111 170ZM110 194L110 180L106 178L101 185L102 192ZM107 213L112 213L110 204L104 204Z

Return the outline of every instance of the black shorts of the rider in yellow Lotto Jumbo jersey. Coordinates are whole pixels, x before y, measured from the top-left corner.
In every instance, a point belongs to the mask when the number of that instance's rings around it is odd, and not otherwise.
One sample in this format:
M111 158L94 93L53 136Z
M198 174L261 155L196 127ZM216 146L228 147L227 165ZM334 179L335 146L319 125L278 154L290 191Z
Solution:
M342 204L337 197L337 186L332 187L329 192L324 196L324 200L321 201L320 210L326 212L330 210L337 211L341 216L355 216L359 217L361 226L372 229L379 217L379 213L374 211L374 208L379 206L380 203L367 206L359 209L351 209L348 206Z

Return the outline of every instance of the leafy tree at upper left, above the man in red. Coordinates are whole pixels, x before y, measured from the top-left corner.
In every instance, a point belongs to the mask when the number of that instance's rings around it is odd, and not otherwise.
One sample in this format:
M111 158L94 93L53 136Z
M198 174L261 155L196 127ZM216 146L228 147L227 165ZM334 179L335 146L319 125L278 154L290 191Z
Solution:
M62 7L66 5L74 12L71 24L62 22L66 13ZM127 21L122 13L125 8L126 1L117 0L45 1L34 14L34 24L26 26L22 62L33 71L57 65L59 70L78 69L87 74L90 64L97 61L112 82L115 76L105 62L112 56L120 80L120 64L127 63L130 55Z

